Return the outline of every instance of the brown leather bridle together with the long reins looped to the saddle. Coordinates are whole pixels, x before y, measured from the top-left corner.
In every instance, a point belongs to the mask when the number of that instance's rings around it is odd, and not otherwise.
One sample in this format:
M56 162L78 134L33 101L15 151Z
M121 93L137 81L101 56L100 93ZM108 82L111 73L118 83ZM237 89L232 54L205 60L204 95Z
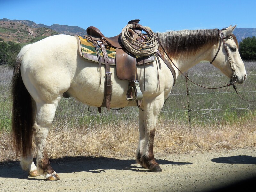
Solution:
M232 71L233 71L233 74L232 74L232 76L231 76L231 78L230 78L230 83L229 83L229 84L226 84L226 85L224 85L224 86L221 86L221 87L213 87L213 88L211 88L211 87L205 87L205 86L202 86L202 85L199 85L199 84L195 83L194 81L192 81L191 79L189 79L188 76L186 76L184 73L182 73L182 72L180 71L180 69L179 69L179 68L174 64L174 62L171 60L171 58L169 57L169 55L168 55L167 52L165 51L163 45L161 44L161 42L159 41L159 39L157 38L157 36L155 35L155 33L153 33L151 30L149 31L148 28L145 28L144 26L142 26L142 25L140 25L140 24L138 24L138 23L132 23L132 24L133 24L135 27L136 27L136 26L140 27L140 28L141 28L143 31L145 31L147 34L150 34L151 36L153 36L153 37L156 39L156 41L158 42L158 44L161 46L161 48L163 49L165 55L166 55L166 56L168 57L168 59L172 62L173 66L176 67L176 68L178 69L178 71L179 71L186 79L188 79L190 82L196 84L196 85L199 86L199 87L203 87L203 88L205 88L205 89L220 89L220 88L229 87L229 86L232 85L233 88L234 88L234 90L236 91L237 95L238 95L241 99L246 100L246 99L242 98L242 97L238 94L238 92L237 92L237 90L236 90L235 83L236 83L236 81L237 81L237 78L236 78L236 74L235 74L235 68L234 68L234 64L233 64L233 62L232 62L232 59L231 59L231 57L230 57L230 55L229 55L229 53L228 53L227 44L225 43L225 39L226 39L226 38L233 39L233 36L232 36L232 35L230 35L229 37L225 37L225 36L223 36L222 30L219 30L219 34L220 34L220 45L219 45L218 51L217 51L217 53L215 54L213 60L210 62L210 63L212 64L212 62L215 60L215 58L217 57L217 55L218 55L218 53L219 53L219 51L220 51L221 44L223 43L223 45L224 45L224 47L225 47L225 51L226 51L227 56L228 56L228 61L229 61L229 63L230 63L230 68L231 68ZM251 101L251 100L246 100L246 101L256 102L256 101Z

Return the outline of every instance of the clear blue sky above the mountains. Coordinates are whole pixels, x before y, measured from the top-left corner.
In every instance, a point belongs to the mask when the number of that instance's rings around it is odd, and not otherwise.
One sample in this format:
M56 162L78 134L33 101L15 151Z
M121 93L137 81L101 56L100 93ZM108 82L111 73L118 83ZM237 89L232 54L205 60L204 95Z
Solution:
M221 29L235 24L256 28L255 9L255 0L0 0L0 19L84 29L95 26L110 37L133 19L140 19L140 24L154 32Z

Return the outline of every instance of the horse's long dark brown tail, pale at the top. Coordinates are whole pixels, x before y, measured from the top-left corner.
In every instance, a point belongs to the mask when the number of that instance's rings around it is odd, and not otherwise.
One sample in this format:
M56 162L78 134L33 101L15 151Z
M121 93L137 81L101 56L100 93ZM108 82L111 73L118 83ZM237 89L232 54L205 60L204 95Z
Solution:
M13 71L11 91L12 91L12 136L13 145L17 154L21 151L26 157L32 149L32 126L33 111L31 96L26 89L21 73L20 65L23 56L28 49L28 45L23 47L16 58L16 66Z

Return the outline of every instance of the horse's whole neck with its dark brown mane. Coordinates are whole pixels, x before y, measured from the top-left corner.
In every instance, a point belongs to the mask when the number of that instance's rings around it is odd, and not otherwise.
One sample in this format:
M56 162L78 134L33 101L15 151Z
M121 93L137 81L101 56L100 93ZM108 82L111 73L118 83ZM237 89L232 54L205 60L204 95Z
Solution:
M183 30L158 33L157 36L174 64L185 72L200 61L212 60L218 47L214 43L218 40L217 32L215 29Z

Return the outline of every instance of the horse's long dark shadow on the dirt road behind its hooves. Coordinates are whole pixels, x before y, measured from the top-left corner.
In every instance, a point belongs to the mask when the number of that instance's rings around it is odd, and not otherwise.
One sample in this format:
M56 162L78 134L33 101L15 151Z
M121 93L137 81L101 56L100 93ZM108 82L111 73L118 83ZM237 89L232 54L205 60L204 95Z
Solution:
M34 158L36 163L36 159ZM168 160L158 159L157 162L164 165L186 165L193 164L189 162L173 162ZM19 167L17 161L4 162L0 165L0 177L5 178L27 178L24 171ZM88 157L88 156L76 156L76 157L63 157L50 159L50 163L53 169L57 173L74 173L81 171L101 173L109 169L115 170L132 170L136 172L147 172L148 169L142 168L139 164L136 164L135 159L116 159L107 157ZM29 178L34 180L34 178Z

